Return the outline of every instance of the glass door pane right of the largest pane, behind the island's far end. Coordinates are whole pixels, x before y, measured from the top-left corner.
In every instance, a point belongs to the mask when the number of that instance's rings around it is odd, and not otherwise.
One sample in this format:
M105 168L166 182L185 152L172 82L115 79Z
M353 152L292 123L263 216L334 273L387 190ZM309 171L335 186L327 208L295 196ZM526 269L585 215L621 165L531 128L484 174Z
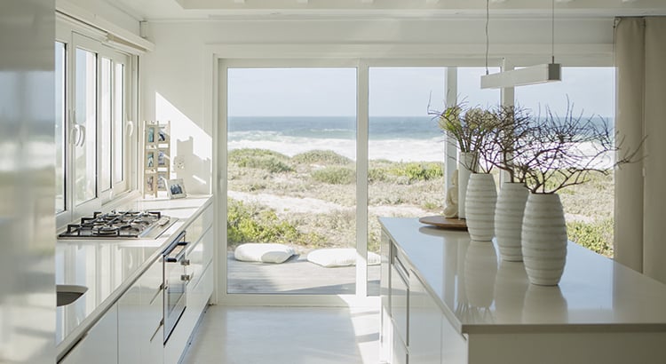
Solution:
M444 107L445 67L369 68L369 254L379 254L378 217L440 214L444 202L445 141L428 115ZM369 295L379 270L369 266Z

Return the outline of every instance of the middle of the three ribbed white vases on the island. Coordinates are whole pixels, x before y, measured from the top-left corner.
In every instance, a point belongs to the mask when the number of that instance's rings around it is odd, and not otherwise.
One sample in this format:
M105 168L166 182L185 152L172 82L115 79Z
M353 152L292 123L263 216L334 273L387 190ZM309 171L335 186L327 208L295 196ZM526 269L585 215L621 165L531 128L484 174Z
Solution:
M521 183L504 183L497 196L495 207L495 237L502 260L522 262L520 243L529 191Z

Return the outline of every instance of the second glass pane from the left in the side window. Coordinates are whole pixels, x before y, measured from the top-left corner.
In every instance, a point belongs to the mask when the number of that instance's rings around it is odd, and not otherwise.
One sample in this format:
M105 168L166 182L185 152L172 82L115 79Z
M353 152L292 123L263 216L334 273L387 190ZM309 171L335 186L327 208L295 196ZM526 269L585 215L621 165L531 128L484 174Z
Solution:
M80 48L75 59L73 125L75 205L97 197L97 54Z

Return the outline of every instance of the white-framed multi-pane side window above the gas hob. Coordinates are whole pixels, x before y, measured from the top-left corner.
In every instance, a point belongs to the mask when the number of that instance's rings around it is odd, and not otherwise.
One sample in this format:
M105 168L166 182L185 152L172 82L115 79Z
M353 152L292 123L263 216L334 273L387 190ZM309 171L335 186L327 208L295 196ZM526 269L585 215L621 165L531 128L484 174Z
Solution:
M130 190L125 134L131 56L58 29L56 58L56 203L58 226Z

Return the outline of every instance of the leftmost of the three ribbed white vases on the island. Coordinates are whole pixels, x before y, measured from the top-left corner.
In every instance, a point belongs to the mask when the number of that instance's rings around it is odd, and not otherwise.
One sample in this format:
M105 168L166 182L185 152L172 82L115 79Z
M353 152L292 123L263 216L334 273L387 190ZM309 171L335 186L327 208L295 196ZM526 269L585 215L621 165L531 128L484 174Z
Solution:
M467 231L473 241L491 241L495 236L495 178L488 173L472 173L465 196Z

